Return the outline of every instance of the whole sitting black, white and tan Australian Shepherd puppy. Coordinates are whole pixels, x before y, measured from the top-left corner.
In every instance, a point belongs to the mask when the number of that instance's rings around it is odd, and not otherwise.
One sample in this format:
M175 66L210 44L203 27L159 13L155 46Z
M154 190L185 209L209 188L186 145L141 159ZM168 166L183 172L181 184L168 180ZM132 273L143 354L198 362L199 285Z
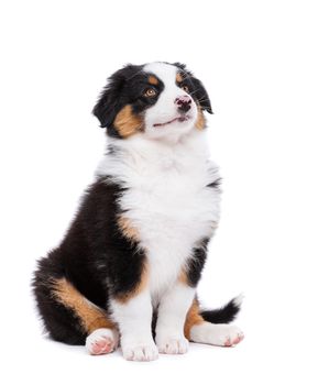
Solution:
M218 227L200 80L175 63L127 65L94 108L107 153L33 289L51 338L127 360L182 354L188 341L232 346L240 299L202 310L196 289Z

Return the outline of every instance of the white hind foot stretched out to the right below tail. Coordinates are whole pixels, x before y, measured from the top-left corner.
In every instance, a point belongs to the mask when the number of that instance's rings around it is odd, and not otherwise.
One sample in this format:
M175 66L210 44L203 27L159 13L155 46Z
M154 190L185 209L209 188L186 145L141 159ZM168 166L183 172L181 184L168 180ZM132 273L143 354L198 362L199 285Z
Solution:
M190 340L218 346L234 346L244 338L243 332L233 324L204 322L190 330Z

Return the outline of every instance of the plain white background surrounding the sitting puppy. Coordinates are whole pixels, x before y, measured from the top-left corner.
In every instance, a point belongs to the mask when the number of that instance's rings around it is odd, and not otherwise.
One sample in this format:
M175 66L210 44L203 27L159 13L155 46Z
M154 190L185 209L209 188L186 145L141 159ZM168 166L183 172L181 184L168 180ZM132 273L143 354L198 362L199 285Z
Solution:
M1 1L2 384L317 384L316 1ZM235 349L92 358L41 336L35 260L105 148L90 114L125 63L180 61L206 85L222 218L199 295L243 292Z

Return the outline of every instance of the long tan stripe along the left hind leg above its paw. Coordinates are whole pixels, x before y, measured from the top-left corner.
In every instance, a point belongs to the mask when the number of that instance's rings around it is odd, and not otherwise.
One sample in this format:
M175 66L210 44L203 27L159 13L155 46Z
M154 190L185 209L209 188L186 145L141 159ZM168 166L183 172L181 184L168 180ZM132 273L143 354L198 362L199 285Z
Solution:
M53 298L76 314L83 329L87 333L91 333L99 328L114 328L114 323L107 318L105 311L89 302L65 278L55 279L53 282L52 294Z

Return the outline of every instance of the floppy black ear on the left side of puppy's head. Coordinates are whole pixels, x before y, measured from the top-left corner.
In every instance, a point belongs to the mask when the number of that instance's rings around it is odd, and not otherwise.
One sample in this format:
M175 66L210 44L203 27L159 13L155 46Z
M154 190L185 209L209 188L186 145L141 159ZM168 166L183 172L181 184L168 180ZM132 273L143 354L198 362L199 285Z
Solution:
M101 91L92 114L99 120L101 128L107 128L111 136L119 136L112 123L120 109L127 103L123 91L125 81L136 72L138 66L128 64L108 78L107 86Z

